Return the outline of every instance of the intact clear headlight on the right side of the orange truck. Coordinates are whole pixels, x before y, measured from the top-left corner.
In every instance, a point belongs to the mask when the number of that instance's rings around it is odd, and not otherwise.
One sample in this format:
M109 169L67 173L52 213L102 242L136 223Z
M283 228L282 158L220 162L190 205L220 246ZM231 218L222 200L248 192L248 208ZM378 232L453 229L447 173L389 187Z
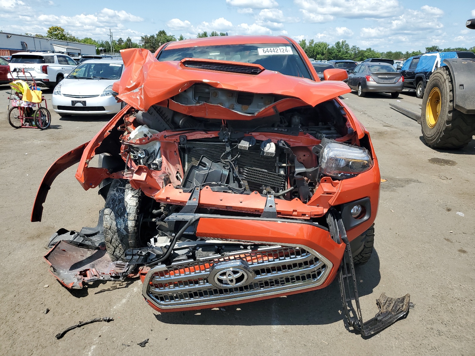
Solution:
M372 166L370 153L361 147L329 142L320 153L320 174L323 176L352 178Z

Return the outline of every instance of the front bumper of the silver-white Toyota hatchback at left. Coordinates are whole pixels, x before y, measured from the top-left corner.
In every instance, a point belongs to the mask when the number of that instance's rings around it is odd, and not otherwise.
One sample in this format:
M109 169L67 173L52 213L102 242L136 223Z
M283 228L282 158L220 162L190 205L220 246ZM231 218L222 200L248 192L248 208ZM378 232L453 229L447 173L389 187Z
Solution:
M85 102L86 105L72 102ZM70 115L105 115L116 114L121 110L121 103L117 103L112 95L95 96L90 98L75 98L64 95L53 95L53 110L57 113Z

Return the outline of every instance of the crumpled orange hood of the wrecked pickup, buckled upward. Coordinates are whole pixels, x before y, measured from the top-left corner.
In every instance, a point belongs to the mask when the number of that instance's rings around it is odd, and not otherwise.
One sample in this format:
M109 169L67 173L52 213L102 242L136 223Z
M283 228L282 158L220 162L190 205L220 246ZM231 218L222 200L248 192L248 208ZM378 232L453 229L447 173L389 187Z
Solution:
M240 92L290 96L311 106L351 92L348 85L340 81L314 82L270 70L248 75L195 69L178 61L159 62L143 48L123 49L121 54L124 71L120 81L114 84L114 91L119 93L119 99L141 111L196 83Z

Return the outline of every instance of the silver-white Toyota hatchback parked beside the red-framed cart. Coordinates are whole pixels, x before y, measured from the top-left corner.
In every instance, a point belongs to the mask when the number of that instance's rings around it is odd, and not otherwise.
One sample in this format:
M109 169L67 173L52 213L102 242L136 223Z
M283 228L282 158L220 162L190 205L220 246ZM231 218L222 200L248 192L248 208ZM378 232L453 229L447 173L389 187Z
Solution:
M112 85L122 75L123 61L91 59L77 66L53 91L53 110L61 117L104 115L120 111Z

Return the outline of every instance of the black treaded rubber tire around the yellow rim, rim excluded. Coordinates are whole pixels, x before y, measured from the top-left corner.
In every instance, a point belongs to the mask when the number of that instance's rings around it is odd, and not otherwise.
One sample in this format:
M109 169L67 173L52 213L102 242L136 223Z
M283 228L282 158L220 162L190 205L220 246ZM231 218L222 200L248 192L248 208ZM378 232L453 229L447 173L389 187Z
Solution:
M428 126L426 123L426 103L428 100L428 95L430 90L429 87L432 84L432 81L437 80L439 76L442 76L439 80L445 81L448 85L448 114L444 120L442 115L439 115L436 126L439 125L439 121L442 121L442 130L435 138L428 137L427 132ZM443 93L444 88L440 88L441 95L447 94ZM430 76L428 84L426 86L426 91L424 93L424 99L422 101L422 112L421 112L421 126L422 126L422 135L424 140L431 148L438 149L460 149L465 147L470 141L472 141L472 136L475 134L475 115L466 115L458 110L454 109L454 90L452 85L452 76L445 67L437 68L434 73Z

